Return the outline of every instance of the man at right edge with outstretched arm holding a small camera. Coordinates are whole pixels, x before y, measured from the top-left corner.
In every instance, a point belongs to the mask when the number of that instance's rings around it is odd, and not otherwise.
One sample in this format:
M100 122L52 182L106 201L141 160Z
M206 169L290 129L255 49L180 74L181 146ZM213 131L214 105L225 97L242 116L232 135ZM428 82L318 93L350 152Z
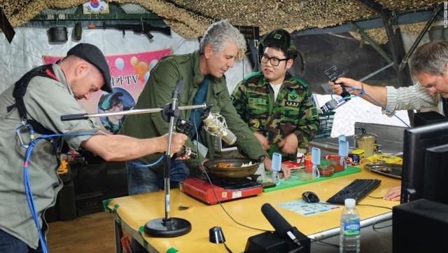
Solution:
M347 87L360 88L374 97L391 111L439 107L448 118L448 41L432 41L423 44L414 53L411 73L418 81L413 86L393 88L391 86L370 86L350 78L338 78L330 82L333 92L342 93L341 83ZM358 94L353 90L350 93ZM373 103L369 97L363 99ZM393 187L384 195L386 200L400 200L401 187Z

